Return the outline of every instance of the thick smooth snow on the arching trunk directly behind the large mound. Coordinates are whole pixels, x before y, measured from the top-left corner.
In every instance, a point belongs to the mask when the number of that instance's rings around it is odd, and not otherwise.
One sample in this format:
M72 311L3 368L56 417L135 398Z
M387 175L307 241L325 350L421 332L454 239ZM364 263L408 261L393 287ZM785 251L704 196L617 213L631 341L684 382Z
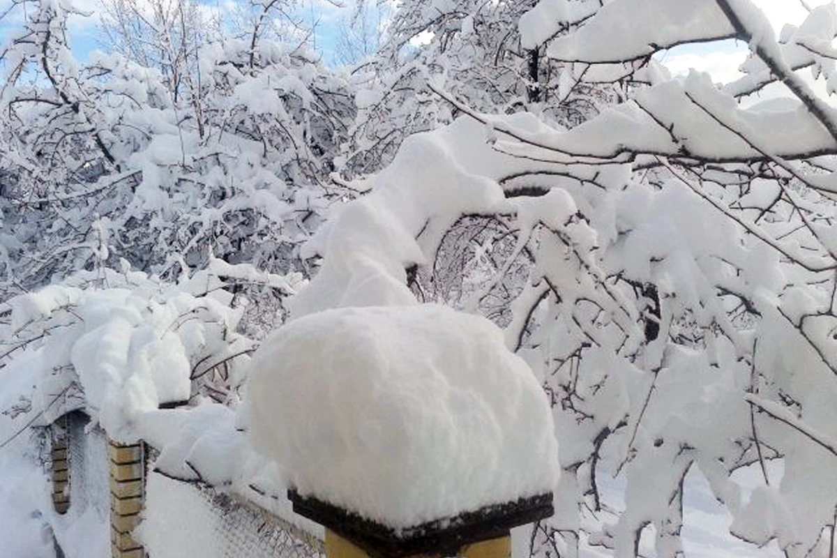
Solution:
M509 120L531 125L534 119ZM485 176L499 173L504 159L483 141L463 141L484 131L485 126L460 119L440 133L404 141L393 164L369 179L372 192L341 207L303 247L304 256L326 261L311 284L290 299L291 315L415 304L404 269L424 263L424 254L433 252L425 247L438 243L461 212L511 211L501 187Z

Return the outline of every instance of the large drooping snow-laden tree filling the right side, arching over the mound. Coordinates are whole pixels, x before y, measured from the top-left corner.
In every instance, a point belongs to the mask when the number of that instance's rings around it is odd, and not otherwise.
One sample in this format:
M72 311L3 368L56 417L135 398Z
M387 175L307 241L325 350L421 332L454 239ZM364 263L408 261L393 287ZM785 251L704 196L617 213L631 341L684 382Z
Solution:
M542 0L520 22L521 44L548 40L549 59L613 81L624 101L562 129L486 114L429 79L463 115L357 185L371 192L309 244L325 263L291 315L444 301L501 323L542 379L560 443L557 513L536 525L533 554L584 542L635 556L650 529L657 555L683 555L696 471L733 535L833 556L834 5L778 38L749 0L594 13ZM721 38L752 51L732 84L672 78L652 58ZM757 103L768 84L786 97ZM742 474L758 475L752 494ZM624 480L624 508L608 476Z

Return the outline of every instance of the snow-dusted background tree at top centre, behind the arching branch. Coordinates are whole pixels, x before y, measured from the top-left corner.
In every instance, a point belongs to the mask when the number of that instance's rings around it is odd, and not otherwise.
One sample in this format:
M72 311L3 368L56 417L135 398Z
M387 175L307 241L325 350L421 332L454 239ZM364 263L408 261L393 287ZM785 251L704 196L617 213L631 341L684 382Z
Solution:
M361 9L372 4L362 2ZM378 3L379 5L387 3ZM341 170L352 177L392 160L403 139L449 123L429 81L492 113L533 111L557 125L578 125L619 98L614 79L568 71L544 56L552 36L524 40L518 19L536 4L406 0L388 18L380 52L357 67L358 117ZM593 13L599 3L584 0ZM573 23L577 26L578 23ZM625 72L627 74L627 71Z

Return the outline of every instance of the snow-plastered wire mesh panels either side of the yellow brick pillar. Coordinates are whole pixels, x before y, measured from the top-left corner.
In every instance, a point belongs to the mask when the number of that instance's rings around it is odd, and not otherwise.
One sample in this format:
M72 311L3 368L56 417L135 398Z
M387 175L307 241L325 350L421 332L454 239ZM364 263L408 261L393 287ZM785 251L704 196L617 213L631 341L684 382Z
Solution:
M95 513L110 531L110 458L107 436L82 412L61 421L69 453L69 513ZM156 452L149 448L151 462ZM323 558L322 541L306 530L225 489L149 471L138 537L149 558ZM105 535L106 536L106 535ZM104 537L103 537L104 538ZM104 538L104 540L107 540Z

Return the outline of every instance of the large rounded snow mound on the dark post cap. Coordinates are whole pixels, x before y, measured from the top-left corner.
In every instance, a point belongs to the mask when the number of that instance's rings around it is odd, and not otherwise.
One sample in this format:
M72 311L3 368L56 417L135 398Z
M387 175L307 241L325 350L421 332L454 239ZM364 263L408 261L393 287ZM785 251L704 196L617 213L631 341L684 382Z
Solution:
M439 305L327 310L256 351L254 447L302 495L395 529L546 494L547 399L489 320Z

